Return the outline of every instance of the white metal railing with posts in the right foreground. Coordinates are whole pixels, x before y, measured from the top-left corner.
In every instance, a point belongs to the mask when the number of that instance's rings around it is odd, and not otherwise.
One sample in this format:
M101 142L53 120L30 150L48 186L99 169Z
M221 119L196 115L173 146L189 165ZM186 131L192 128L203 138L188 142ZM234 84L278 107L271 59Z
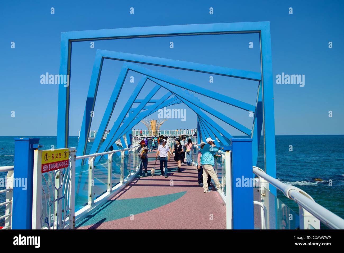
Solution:
M300 229L320 229L320 221L331 229L344 229L342 218L316 203L300 188L286 185L256 166L253 166L253 173L258 176L261 188L268 189L270 183L282 191L288 199L294 200L299 205ZM264 210L268 211L269 207L265 206Z

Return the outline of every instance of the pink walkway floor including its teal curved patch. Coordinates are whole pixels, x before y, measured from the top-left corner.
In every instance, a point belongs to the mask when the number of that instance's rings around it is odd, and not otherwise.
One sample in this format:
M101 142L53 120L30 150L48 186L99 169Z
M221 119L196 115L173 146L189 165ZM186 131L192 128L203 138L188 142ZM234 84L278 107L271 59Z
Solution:
M168 178L160 176L159 160L149 153L148 176L136 177L101 208L78 223L77 229L226 229L226 206L216 190L203 193L197 169L171 156Z

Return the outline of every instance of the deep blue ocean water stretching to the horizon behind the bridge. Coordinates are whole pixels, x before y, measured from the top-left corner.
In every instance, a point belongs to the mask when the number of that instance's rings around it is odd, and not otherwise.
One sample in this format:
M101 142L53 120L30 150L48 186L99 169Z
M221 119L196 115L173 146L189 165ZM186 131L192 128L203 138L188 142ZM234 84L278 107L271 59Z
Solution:
M15 137L0 136L0 166L13 165ZM51 145L56 146L56 136L30 137L40 138L39 143L43 145L43 149L50 149ZM69 137L69 147L77 147L77 142L77 136ZM344 135L276 136L278 180L304 190L316 202L341 218L344 218L343 143ZM87 152L89 150L90 145ZM262 139L257 166L264 168ZM0 178L4 178L6 173L0 172ZM315 181L315 178L323 181ZM298 213L298 205L287 199L279 190L277 197ZM4 202L4 194L0 194L0 202ZM0 207L0 214L4 213L3 210L4 207ZM0 220L0 226L1 224L3 220ZM326 229L324 225L321 228Z

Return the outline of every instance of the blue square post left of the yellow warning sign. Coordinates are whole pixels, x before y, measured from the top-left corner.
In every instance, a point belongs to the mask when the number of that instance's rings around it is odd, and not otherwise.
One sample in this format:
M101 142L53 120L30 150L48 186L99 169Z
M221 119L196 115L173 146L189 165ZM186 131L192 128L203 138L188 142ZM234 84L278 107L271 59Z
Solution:
M12 229L31 229L33 144L39 138L14 138ZM21 182L21 185L18 185Z

